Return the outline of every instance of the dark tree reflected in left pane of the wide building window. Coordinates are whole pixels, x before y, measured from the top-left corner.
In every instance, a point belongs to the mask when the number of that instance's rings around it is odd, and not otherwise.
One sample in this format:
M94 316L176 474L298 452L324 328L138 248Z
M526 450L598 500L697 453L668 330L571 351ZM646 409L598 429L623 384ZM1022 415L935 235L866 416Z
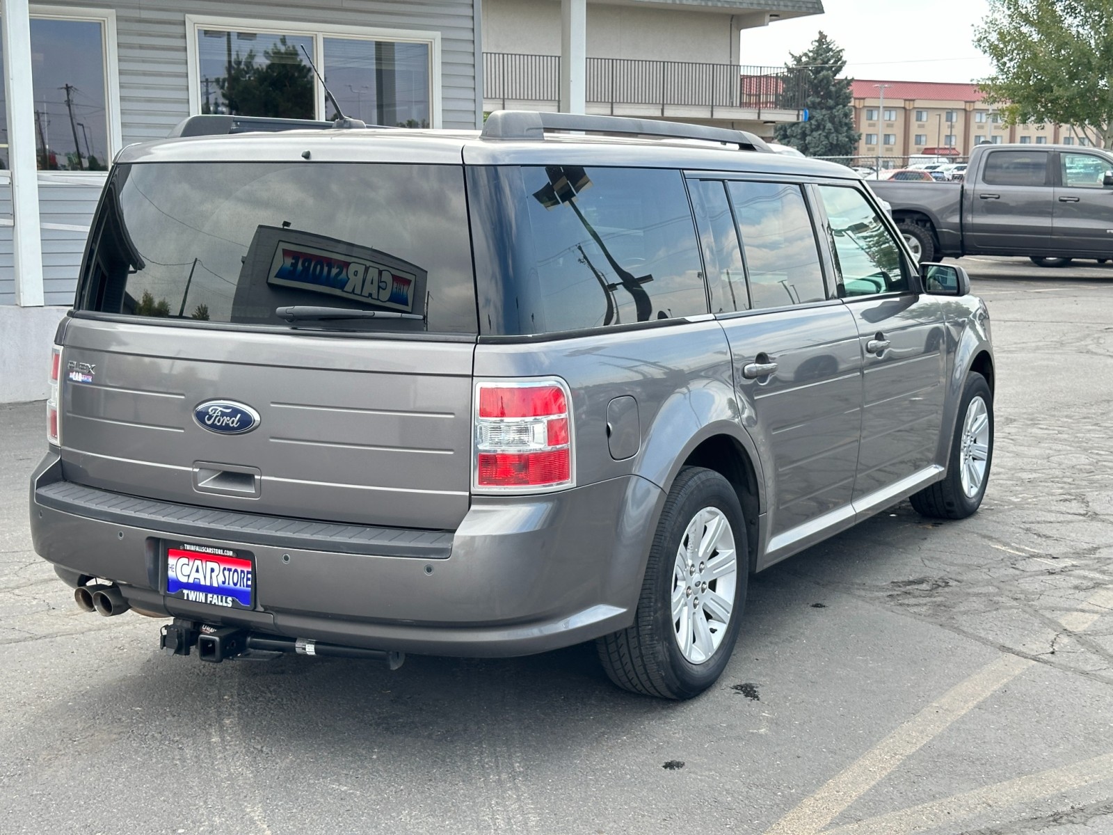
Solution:
M256 63L254 49L236 52L227 75L216 80L217 89L234 116L270 116L280 119L312 119L313 70L302 63L297 47L279 38L263 51Z

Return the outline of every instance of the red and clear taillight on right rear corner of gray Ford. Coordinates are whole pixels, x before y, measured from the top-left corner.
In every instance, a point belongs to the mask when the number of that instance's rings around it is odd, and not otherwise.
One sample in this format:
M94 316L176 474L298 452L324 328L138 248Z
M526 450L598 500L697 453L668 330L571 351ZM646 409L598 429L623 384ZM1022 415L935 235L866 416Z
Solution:
M477 383L472 487L520 493L572 487L571 402L568 384L554 377Z

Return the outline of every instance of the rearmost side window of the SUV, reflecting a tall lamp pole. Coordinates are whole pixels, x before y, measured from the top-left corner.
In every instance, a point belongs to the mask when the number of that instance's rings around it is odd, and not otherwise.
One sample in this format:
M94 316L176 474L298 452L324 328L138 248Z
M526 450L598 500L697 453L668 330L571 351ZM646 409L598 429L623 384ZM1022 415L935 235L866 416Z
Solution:
M534 249L533 333L708 312L680 171L523 167L522 180Z

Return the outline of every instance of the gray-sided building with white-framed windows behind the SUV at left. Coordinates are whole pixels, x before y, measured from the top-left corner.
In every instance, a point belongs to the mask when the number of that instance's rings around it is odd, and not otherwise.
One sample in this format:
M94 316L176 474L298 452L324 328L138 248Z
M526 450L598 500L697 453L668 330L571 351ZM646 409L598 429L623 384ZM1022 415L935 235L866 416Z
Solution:
M46 396L107 168L200 112L474 128L479 0L2 0L0 403ZM276 95L279 94L280 95Z

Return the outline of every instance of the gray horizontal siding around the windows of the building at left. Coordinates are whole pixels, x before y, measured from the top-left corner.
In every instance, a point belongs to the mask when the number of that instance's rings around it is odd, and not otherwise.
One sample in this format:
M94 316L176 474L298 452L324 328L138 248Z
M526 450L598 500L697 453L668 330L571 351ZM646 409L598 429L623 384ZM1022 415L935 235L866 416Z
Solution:
M63 0L59 0L62 2ZM441 32L441 112L446 128L475 127L472 0L72 0L69 7L114 9L124 144L165 137L189 116L185 16L252 18L314 24ZM73 299L87 228L104 177L40 175L46 303ZM0 304L14 303L11 186L0 181Z

